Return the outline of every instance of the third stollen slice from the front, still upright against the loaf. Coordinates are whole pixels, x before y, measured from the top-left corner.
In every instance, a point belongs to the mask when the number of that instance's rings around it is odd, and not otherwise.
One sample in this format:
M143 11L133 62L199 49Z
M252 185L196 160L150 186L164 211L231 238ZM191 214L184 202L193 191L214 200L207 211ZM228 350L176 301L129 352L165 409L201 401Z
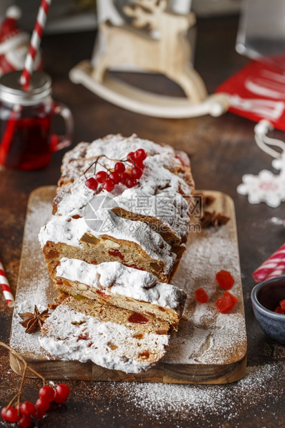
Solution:
M61 215L41 228L39 240L52 278L62 257L77 258L91 264L119 261L147 270L168 282L177 255L163 238L147 224L117 217L99 209L96 221L108 225L108 232L97 233L82 217Z

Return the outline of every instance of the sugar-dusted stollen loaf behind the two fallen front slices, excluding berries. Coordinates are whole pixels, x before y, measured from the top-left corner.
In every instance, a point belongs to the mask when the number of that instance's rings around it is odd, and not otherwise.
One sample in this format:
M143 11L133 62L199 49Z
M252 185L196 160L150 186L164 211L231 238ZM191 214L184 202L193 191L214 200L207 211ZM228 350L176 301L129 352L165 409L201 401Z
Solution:
M90 166L98 157L96 173L112 171L117 160L139 148L147 157L136 186L117 184L108 193L85 185L95 173ZM126 171L130 173L130 166ZM186 155L176 155L171 146L136 135L109 135L78 144L63 157L54 214L39 233L50 275L54 277L59 260L68 257L92 264L117 261L170 282L185 249L193 192ZM87 221L84 210L96 195L112 198L113 204L97 209L96 218ZM104 224L100 231L99 221Z

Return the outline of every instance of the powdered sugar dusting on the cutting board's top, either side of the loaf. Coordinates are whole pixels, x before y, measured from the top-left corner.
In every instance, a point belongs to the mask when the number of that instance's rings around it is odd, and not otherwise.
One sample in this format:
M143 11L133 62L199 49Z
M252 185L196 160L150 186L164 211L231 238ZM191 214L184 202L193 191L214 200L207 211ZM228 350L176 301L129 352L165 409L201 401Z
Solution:
M41 358L48 356L37 342L37 333L24 334L17 314L31 311L34 304L39 309L46 309L46 302L52 302L52 293L55 293L37 241L37 231L50 217L52 196L51 192L46 193L42 200L41 193L34 195L32 210L28 213L19 275L19 278L26 279L18 286L11 338L11 345L16 351ZM230 215L230 208L226 208L226 212ZM215 273L220 269L228 269L232 273L236 282L230 292L239 298L235 308L226 314L219 314L215 308L216 298L224 292L215 281ZM233 362L233 355L237 360L244 357L246 329L233 219L220 228L190 233L188 248L173 284L188 295L184 312L188 321L182 322L179 331L170 338L164 361L171 364L226 364ZM207 291L210 297L208 304L195 301L194 291L199 286Z

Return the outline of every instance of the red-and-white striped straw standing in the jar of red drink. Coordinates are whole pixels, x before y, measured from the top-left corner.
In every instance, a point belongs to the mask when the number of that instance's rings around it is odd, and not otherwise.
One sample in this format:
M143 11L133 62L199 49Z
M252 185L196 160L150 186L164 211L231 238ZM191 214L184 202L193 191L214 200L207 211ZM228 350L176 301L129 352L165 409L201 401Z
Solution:
M41 0L41 6L39 6L35 28L32 32L32 38L30 40L30 48L20 79L23 89L28 89L30 86L30 77L32 76L32 71L34 70L35 57L39 51L39 45L41 44L41 37L43 35L43 28L46 26L48 9L50 8L51 2L52 0Z

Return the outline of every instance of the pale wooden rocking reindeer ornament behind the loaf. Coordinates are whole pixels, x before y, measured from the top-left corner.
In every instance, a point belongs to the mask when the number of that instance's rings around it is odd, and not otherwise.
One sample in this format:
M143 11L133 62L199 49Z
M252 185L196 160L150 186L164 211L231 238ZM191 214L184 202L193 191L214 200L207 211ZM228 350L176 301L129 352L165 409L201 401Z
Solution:
M131 25L101 22L106 46L95 66L83 61L70 71L70 79L128 110L157 117L221 115L228 108L223 94L208 97L204 81L190 64L191 48L186 31L195 14L179 14L168 0L134 0L124 7ZM108 70L120 66L161 73L184 90L186 99L147 93L112 77Z

